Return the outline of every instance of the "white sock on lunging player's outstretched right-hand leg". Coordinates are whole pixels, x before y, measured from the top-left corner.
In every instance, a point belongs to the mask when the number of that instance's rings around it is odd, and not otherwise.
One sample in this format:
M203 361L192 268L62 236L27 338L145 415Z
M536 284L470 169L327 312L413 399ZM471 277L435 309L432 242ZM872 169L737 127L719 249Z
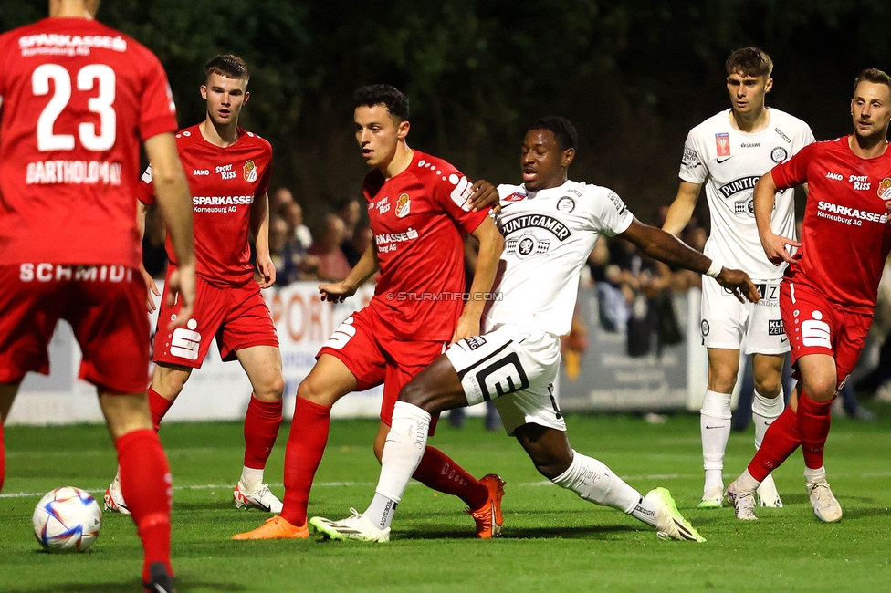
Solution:
M551 480L596 505L612 506L646 525L656 526L655 505L613 473L603 463L573 451L572 463Z

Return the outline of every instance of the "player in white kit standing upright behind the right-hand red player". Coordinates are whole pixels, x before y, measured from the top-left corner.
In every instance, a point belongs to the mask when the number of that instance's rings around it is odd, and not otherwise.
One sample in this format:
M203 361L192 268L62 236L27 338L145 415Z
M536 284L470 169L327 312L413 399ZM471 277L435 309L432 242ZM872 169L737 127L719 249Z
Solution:
M730 435L730 394L739 373L739 350L753 354L755 393L752 421L755 448L783 410L782 364L789 340L780 316L777 267L764 256L755 225L755 182L779 162L813 141L802 120L767 108L773 62L756 47L734 51L727 59L731 109L690 130L684 145L680 187L663 229L679 234L690 222L699 192L706 186L711 234L705 254L751 275L762 296L758 304L739 303L711 278L702 279L700 330L708 349L708 387L700 411L705 485L699 508L720 508L724 494L724 450ZM794 190L777 193L771 224L781 236L795 236ZM782 506L773 478L758 489L762 506Z

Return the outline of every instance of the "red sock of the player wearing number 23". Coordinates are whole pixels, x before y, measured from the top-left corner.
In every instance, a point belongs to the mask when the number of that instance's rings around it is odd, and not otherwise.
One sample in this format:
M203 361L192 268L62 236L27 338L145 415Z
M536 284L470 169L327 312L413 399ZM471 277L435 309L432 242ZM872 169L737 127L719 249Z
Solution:
M121 465L121 493L136 524L144 550L142 581L149 567L163 562L170 574L170 507L173 482L158 435L148 429L128 432L114 442Z

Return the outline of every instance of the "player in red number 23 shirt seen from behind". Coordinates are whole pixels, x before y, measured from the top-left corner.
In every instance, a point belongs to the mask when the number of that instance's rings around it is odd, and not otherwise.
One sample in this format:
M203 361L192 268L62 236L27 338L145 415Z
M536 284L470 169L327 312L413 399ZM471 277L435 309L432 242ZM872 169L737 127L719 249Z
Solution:
M170 298L194 299L188 187L158 58L93 20L99 1L53 0L50 18L0 36L0 421L28 371L47 374L59 319L96 385L144 548L142 581L173 590L170 468L145 397L149 349L139 276L139 144L181 262ZM177 325L176 322L171 324ZM3 484L0 422L0 486Z

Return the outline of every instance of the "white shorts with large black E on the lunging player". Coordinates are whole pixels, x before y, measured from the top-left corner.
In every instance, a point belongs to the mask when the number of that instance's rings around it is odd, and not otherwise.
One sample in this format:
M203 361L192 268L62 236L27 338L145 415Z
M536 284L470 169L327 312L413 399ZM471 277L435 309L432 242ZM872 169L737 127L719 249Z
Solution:
M509 436L523 424L566 431L554 399L560 370L560 338L538 329L499 326L462 339L446 350L467 403L494 400Z

